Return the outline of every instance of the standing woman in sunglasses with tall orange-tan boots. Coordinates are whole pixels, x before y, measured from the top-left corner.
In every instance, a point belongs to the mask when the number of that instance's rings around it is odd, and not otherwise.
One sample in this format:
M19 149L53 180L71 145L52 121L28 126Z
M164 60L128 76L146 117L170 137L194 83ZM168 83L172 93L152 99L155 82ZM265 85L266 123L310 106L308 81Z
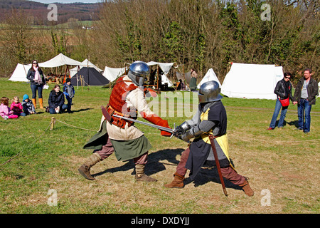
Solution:
M43 86L46 85L46 78L43 75L43 71L38 66L38 61L32 61L32 66L27 73L27 78L31 83L32 102L34 107L37 108L36 95L38 90L40 108L43 108L42 90Z

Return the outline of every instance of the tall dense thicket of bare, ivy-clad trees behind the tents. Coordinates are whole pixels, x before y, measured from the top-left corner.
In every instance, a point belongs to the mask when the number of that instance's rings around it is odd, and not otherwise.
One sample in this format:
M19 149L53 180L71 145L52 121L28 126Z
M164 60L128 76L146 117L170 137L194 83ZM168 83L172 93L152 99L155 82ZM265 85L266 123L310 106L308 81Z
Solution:
M267 16L263 4L270 6ZM319 6L316 0L106 1L93 48L114 66L177 62L202 75L213 68L223 79L230 62L277 64L294 74L312 68L319 80Z

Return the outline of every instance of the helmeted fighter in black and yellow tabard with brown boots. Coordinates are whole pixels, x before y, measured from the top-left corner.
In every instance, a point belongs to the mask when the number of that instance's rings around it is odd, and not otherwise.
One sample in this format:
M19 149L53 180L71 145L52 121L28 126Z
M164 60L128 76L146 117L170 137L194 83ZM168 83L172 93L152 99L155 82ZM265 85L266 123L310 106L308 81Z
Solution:
M247 182L247 178L239 175L230 163L228 155L227 137L227 113L221 102L219 84L216 81L208 81L201 85L198 92L198 112L191 120L179 125L175 134L178 138L189 142L191 145L181 154L174 180L164 185L169 188L183 188L183 180L187 170L190 170L190 177L193 180L198 174L206 160L214 160L213 150L210 145L209 134L215 137L215 148L223 177L242 187L246 195L252 196L253 191Z

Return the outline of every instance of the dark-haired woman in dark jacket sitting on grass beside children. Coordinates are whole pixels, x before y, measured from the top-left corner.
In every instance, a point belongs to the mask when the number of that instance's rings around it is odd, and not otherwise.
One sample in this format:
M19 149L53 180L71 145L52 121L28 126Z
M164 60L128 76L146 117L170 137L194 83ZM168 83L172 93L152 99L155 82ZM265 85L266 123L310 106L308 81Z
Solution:
M55 88L51 90L49 94L49 113L63 113L63 110L68 108L68 105L65 105L65 95L60 91L60 86L55 84Z

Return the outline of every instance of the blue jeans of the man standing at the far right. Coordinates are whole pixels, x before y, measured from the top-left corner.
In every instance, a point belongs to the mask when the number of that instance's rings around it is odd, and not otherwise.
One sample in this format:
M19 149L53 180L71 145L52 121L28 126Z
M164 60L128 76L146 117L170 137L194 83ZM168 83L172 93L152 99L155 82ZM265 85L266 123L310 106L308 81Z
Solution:
M310 131L310 112L311 105L309 105L309 101L301 98L298 104L298 128L304 130L305 133L309 133Z

